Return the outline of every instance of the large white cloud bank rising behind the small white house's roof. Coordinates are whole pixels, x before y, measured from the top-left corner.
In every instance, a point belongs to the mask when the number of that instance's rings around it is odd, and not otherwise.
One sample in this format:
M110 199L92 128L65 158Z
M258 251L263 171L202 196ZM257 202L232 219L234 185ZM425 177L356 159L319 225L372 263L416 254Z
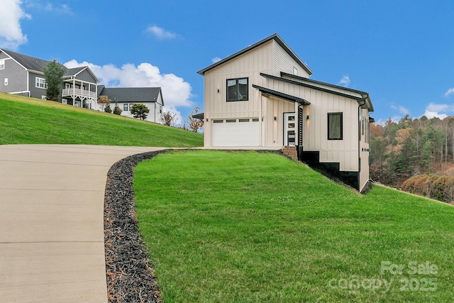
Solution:
M106 87L161 87L165 110L177 113L177 124L182 123L182 115L177 107L193 106L190 100L192 87L182 77L174 74L161 74L158 67L150 63L125 64L122 67L115 65L94 65L89 62L71 60L65 63L68 68L89 66L94 75L99 78L100 84Z

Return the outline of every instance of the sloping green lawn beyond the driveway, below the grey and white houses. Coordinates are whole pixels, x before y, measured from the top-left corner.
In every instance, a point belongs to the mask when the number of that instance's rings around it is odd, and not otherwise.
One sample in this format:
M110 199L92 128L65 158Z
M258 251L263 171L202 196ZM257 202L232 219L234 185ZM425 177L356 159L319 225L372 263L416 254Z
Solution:
M0 93L0 144L203 146L200 133Z

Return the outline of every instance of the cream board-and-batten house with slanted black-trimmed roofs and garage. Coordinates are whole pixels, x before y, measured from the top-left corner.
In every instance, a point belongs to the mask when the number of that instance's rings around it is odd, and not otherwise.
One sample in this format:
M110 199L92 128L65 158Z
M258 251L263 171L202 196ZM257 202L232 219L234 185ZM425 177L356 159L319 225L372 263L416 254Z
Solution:
M277 34L198 73L206 147L295 145L300 160L365 187L374 110L367 92L309 79L312 71Z

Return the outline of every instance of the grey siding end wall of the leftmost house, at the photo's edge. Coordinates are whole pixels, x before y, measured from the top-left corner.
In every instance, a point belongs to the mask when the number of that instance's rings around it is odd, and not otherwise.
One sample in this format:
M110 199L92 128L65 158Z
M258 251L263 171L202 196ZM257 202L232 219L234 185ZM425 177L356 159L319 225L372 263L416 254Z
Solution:
M6 58L4 70L0 70L0 92L27 92L27 71L12 59L9 59L4 53L0 53ZM4 79L8 78L8 85L5 85Z

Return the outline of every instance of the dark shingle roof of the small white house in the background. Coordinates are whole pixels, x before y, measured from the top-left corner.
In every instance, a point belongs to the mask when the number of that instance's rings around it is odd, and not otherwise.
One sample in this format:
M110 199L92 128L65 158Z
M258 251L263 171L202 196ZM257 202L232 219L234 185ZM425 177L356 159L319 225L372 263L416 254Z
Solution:
M107 96L112 102L156 102L160 87L111 87L98 86L99 96Z

